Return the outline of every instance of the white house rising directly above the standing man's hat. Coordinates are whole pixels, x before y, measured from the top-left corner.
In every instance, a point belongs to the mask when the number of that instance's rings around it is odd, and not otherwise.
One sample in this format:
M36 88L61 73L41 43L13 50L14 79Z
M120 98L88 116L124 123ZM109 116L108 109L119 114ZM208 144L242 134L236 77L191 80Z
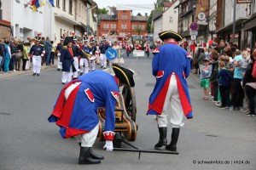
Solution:
M179 1L173 3L165 3L164 13L162 14L162 31L176 31L178 20L178 5Z

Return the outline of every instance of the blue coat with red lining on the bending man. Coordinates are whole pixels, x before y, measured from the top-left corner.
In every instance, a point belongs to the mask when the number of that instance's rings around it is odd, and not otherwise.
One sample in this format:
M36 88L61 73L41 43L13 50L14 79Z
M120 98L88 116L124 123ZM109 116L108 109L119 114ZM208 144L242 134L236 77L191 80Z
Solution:
M65 89L73 82L81 82L65 102ZM85 93L90 91L90 93ZM70 138L90 132L99 123L97 108L105 107L105 132L114 131L114 108L119 97L119 88L112 75L105 71L90 71L61 90L49 122L61 127L62 138Z

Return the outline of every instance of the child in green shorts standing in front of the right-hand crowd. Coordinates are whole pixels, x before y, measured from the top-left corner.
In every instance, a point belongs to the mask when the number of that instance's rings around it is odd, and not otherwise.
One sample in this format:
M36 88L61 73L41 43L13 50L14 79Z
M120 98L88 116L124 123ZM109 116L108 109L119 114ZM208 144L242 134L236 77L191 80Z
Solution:
M202 66L201 69L201 88L204 88L204 97L202 99L208 100L208 88L209 88L209 82L210 82L210 77L212 74L212 65L209 65L210 60L205 58L203 59L204 65Z

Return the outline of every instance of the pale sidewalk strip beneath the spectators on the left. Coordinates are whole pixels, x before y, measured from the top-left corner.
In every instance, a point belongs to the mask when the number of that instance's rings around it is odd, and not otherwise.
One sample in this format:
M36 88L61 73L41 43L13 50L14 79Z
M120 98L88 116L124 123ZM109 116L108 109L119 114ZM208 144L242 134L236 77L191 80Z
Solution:
M56 62L55 62L56 63ZM47 70L47 69L52 69L52 68L55 68L57 69L57 65L51 65L51 66L48 66L48 65L42 65L41 67L41 71L44 71L44 70ZM27 71L10 71L7 72L7 73L3 73L3 71L0 72L0 80L5 80L5 79L9 79L11 77L19 77L21 75L32 75L32 68L30 68L29 70Z

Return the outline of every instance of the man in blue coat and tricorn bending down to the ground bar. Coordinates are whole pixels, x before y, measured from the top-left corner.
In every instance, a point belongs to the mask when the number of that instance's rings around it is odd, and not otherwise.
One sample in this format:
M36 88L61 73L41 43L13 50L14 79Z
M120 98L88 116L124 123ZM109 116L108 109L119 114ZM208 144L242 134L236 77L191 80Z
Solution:
M98 107L105 107L105 128L103 146L113 150L114 108L119 99L119 87L124 84L134 87L133 73L119 65L113 65L115 76L105 71L90 71L69 82L61 90L49 122L61 127L63 139L76 136L80 144L79 164L98 164L104 159L91 147L99 131Z

